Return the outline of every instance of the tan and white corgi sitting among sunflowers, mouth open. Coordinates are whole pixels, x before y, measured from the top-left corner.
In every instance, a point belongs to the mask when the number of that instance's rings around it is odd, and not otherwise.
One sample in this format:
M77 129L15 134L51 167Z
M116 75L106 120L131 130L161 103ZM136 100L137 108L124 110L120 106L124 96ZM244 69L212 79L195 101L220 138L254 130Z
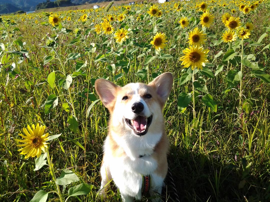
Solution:
M161 194L167 174L169 148L163 107L172 85L170 72L157 76L148 85L129 83L120 87L105 79L95 81L97 94L110 112L100 168L100 195L105 195L113 179L124 202L140 199L146 188L155 196L153 201L161 200L156 195ZM149 187L144 187L145 182Z

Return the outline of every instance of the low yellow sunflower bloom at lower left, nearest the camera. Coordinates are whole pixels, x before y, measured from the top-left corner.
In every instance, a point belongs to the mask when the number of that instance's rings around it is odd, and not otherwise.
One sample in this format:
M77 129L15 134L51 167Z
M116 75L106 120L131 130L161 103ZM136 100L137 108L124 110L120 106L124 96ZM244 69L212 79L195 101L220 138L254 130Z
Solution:
M18 142L24 142L24 144L17 145L18 147L23 147L18 151L21 151L20 154L25 155L25 159L29 157L39 157L41 155L41 151L45 152L44 148L48 147L46 140L48 140L49 133L44 134L45 126L40 126L39 124L32 125L33 130L28 125L28 131L26 128L23 128L23 134L19 134L21 137L25 138L25 140L17 140Z

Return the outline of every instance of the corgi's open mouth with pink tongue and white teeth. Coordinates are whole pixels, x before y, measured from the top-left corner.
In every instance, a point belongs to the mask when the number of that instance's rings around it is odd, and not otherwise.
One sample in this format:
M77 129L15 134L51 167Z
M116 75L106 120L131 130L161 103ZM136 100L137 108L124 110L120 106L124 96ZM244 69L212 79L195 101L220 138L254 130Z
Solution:
M149 116L148 118L145 116L136 116L134 120L125 119L127 125L133 129L136 135L145 135L147 130L152 122L153 115Z

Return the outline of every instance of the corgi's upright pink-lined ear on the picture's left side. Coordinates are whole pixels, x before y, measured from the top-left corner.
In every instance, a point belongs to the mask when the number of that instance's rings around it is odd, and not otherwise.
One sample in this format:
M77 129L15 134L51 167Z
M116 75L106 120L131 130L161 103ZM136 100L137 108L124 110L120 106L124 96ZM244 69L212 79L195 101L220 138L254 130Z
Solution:
M95 88L103 105L108 109L112 108L115 103L116 90L119 86L106 79L97 79L95 81Z

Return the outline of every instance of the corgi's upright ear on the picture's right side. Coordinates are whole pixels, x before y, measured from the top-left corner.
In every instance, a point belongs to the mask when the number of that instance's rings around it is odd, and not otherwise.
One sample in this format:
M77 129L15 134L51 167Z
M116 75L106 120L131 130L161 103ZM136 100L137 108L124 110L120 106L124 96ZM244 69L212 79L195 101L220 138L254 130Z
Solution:
M154 86L161 101L165 104L173 86L173 75L171 72L165 72L157 76L149 85Z

